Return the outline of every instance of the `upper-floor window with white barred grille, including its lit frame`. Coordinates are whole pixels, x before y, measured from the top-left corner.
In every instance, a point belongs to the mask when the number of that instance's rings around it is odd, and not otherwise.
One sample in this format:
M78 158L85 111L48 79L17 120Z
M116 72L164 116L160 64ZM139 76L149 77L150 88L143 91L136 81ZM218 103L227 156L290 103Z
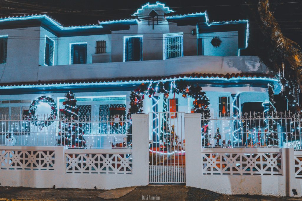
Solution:
M164 34L163 59L183 56L183 33Z

